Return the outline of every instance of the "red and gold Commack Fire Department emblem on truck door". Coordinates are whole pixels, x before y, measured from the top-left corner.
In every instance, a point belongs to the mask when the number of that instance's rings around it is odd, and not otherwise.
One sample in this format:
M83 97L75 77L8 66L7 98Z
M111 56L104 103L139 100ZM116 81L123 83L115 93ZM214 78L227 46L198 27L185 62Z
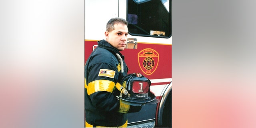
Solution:
M147 75L151 75L158 65L159 54L156 50L146 48L138 53L140 69Z

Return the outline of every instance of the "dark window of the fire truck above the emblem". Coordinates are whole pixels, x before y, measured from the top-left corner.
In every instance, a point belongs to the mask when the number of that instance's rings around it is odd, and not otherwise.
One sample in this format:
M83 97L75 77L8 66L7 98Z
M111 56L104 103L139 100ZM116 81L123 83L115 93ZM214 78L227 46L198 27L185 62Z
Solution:
M127 0L129 34L169 38L171 28L171 0Z

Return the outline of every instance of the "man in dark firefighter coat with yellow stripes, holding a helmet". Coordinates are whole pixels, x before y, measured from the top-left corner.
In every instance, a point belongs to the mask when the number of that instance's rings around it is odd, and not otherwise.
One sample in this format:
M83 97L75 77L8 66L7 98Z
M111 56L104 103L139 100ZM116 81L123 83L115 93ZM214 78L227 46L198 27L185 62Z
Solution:
M106 25L105 40L89 56L85 65L86 127L127 127L127 113L138 112L141 106L124 104L116 98L115 85L127 74L124 50L128 36L128 22L112 18ZM137 75L138 76L138 75Z

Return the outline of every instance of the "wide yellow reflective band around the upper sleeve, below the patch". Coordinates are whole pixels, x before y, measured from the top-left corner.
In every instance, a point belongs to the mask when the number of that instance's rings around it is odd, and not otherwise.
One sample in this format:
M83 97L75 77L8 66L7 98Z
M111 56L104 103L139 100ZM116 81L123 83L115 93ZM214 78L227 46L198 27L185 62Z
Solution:
M95 80L93 82L90 82L88 86L85 86L87 88L87 94L91 95L94 92L98 91L107 91L112 93L114 89L115 83L109 80Z

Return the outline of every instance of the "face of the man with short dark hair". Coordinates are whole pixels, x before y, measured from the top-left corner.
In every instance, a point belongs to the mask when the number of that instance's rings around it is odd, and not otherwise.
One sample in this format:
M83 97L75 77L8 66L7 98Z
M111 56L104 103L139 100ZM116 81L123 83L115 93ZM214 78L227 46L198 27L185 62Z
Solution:
M128 28L125 24L114 24L112 32L105 32L106 40L118 51L124 50L127 44Z

